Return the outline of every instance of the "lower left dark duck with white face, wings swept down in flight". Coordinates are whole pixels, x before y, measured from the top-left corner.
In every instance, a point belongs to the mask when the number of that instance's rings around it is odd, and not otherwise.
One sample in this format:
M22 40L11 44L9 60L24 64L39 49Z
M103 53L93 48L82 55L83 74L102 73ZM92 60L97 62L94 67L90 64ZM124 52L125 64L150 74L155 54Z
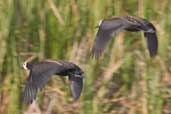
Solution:
M39 63L25 62L23 68L30 71L23 93L25 103L33 102L38 90L52 75L68 76L73 100L80 97L84 72L77 65L71 62L46 60Z

